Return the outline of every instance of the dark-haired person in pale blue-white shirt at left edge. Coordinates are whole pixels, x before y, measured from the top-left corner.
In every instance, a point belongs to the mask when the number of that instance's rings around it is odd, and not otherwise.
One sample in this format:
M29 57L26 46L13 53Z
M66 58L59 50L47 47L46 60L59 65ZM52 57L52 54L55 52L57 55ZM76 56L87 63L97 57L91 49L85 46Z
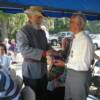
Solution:
M11 62L11 58L7 55L6 46L0 43L0 65L9 71Z

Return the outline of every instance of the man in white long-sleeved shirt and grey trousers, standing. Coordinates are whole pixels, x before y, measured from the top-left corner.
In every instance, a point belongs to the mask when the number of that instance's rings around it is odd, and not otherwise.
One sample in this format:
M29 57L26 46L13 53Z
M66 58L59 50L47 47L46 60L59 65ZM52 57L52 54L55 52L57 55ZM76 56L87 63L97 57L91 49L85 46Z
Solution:
M87 100L90 73L94 58L91 39L84 33L86 19L82 14L75 14L70 19L70 31L74 39L67 62L54 61L56 66L67 68L65 100Z

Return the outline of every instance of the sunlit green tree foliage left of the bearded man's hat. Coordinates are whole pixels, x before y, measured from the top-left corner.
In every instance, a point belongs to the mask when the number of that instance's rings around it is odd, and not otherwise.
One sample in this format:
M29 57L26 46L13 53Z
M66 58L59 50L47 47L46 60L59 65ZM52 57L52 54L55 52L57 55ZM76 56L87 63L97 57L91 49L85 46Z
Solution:
M27 17L24 14L0 13L0 32L2 38L15 38L16 32L26 23Z

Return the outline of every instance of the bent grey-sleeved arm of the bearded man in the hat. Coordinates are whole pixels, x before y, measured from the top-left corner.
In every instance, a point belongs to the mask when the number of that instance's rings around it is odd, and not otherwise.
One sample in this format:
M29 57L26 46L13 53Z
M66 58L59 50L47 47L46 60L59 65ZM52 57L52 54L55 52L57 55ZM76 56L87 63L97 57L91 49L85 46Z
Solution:
M41 60L43 50L30 47L29 41L22 31L17 34L17 45L24 58Z

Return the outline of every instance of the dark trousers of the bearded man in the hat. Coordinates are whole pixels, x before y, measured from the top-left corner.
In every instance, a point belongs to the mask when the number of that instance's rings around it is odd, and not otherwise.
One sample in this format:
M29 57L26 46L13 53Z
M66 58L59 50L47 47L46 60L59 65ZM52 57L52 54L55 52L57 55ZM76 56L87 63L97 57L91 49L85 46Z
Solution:
M29 79L23 76L23 81L26 86L30 86L36 94L36 100L45 100L47 76L43 76L41 79Z

